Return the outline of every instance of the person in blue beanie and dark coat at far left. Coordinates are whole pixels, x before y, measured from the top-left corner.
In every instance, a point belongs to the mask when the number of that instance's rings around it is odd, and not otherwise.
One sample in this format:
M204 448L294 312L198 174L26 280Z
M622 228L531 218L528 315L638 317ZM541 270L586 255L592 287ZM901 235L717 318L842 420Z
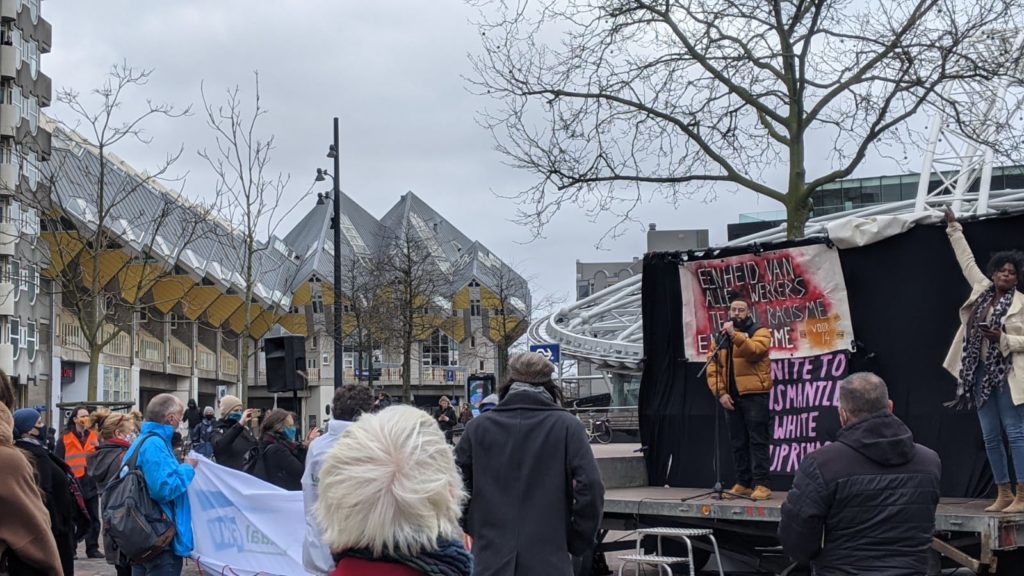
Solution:
M14 446L20 448L36 469L36 486L50 517L50 533L57 546L60 567L66 575L75 573L75 547L78 543L75 527L89 530L89 520L78 506L72 493L71 468L60 458L49 453L42 444L46 421L32 408L14 412ZM24 567L28 568L28 567ZM23 573L19 568L11 574ZM31 569L24 573L34 573Z

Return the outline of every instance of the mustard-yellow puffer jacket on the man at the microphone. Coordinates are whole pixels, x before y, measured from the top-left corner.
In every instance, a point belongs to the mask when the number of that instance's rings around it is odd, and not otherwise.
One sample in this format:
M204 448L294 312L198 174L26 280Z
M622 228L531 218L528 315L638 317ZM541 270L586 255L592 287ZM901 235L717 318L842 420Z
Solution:
M708 365L708 387L715 398L729 393L729 370L736 370L736 389L739 396L763 394L771 389L771 331L758 328L753 336L736 330L732 336L732 366L729 351L723 347L718 358ZM711 355L709 355L711 358Z

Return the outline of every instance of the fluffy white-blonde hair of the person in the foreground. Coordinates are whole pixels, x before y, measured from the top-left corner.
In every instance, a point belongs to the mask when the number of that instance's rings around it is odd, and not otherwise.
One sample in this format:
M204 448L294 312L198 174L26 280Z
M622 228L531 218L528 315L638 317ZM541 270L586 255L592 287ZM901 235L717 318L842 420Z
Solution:
M461 536L465 498L433 418L393 406L364 414L335 443L321 469L316 519L332 551L416 556Z

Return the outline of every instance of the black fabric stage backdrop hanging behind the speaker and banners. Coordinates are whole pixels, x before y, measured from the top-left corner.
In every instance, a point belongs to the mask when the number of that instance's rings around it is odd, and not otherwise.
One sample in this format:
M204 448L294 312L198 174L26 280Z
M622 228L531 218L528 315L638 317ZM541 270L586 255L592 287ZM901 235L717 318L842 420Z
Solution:
M1024 245L1024 216L965 223L965 233L984 268L996 250ZM687 362L682 340L679 264L687 257L723 257L754 249L714 254L650 253L643 266L644 372L640 386L640 435L647 447L652 486L711 488L715 482L715 412L718 404L697 378L700 359ZM914 439L942 458L942 493L980 497L991 488L981 430L974 411L952 412L956 382L942 368L958 325L957 311L969 294L943 225L919 225L883 242L840 251L858 349L850 371L871 370L889 384L896 415ZM697 361L701 363L697 363ZM728 431L720 415L722 479L732 485ZM778 477L776 490L790 479Z

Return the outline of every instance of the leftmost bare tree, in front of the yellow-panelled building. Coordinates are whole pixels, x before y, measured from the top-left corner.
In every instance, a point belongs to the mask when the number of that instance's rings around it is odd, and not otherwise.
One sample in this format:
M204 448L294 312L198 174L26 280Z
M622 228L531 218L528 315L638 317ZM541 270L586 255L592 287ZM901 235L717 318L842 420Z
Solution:
M129 93L145 86L151 74L122 63L86 96L58 90L68 115L56 128L56 146L72 150L42 164L43 181L23 196L43 215L49 233L44 274L80 328L89 358L89 401L97 399L100 354L121 334L130 334L133 313L153 303L143 300L150 288L174 273L182 251L206 234L211 213L209 206L160 183L180 149L144 173L112 153L130 140L150 143L147 120L188 114L148 99L141 112L125 112Z

